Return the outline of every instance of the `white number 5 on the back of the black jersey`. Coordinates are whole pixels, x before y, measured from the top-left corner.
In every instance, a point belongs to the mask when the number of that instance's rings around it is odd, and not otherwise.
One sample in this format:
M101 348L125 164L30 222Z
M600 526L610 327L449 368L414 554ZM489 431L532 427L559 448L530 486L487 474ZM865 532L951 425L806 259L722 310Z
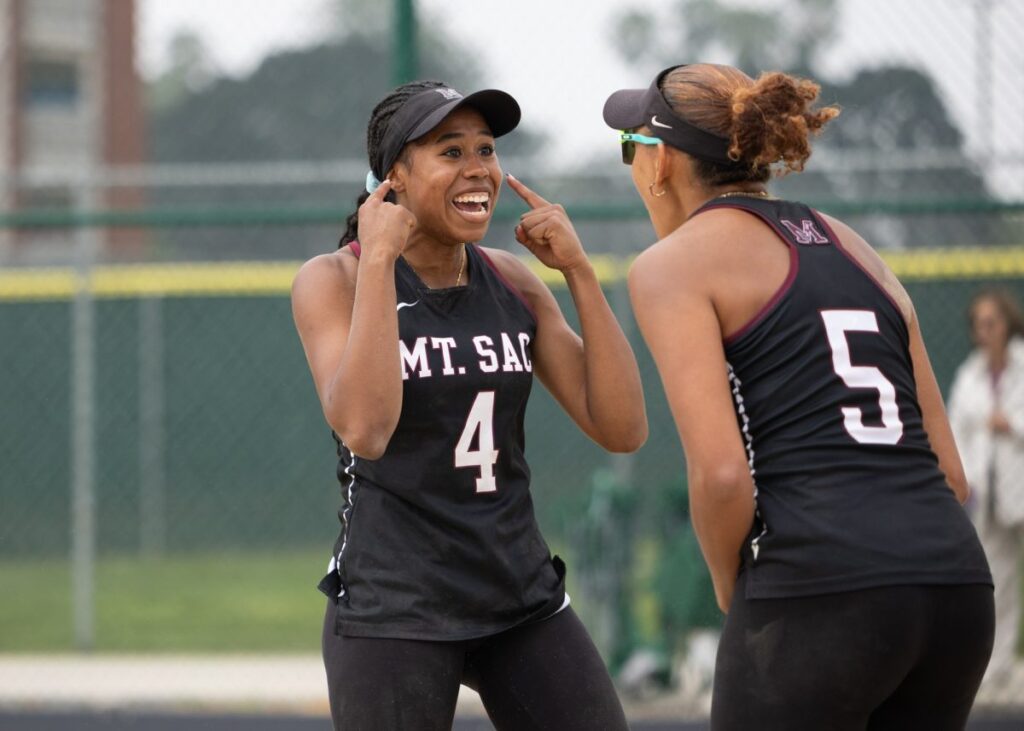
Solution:
M821 312L825 335L833 351L833 368L850 388L873 388L879 392L882 426L865 426L863 412L843 406L843 426L861 444L895 444L903 436L903 422L896 403L896 387L873 365L854 365L850 360L847 333L878 333L879 320L866 309L826 309Z

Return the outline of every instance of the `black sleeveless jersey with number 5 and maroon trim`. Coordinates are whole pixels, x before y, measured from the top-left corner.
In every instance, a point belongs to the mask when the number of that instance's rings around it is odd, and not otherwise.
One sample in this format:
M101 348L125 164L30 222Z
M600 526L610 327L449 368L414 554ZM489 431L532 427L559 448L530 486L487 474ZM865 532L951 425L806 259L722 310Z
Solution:
M786 201L713 201L771 226L790 273L725 342L757 492L749 598L991 584L922 424L909 332L827 222ZM725 244L725 243L723 243Z

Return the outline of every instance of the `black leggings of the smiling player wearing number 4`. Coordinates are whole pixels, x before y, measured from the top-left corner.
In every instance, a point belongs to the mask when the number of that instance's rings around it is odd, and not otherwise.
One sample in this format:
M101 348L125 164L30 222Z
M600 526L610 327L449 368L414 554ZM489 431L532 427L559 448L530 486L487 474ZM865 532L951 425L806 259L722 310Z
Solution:
M334 634L324 619L331 717L344 731L449 731L459 685L498 731L628 729L608 672L570 607L493 637L429 642Z

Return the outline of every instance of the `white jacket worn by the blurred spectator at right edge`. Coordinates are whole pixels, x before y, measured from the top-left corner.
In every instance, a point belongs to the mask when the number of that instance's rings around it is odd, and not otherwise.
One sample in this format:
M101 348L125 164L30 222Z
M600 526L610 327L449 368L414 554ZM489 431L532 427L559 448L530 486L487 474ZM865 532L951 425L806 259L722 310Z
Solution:
M989 465L995 466L996 514L1002 525L1024 524L1024 339L1008 346L1007 368L997 393L984 353L975 350L956 371L949 394L949 423L971 485L976 514L985 520ZM1010 423L1010 434L995 434L988 419L998 407Z

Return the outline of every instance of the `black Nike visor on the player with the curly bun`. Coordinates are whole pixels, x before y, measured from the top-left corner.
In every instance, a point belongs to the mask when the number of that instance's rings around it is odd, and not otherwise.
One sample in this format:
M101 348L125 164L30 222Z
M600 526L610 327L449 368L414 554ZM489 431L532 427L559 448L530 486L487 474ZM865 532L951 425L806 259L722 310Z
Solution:
M684 64L685 66L685 64ZM604 122L612 129L648 127L651 134L698 160L729 167L741 164L729 157L729 139L681 120L662 94L662 80L679 66L660 72L646 89L620 89L604 102Z

